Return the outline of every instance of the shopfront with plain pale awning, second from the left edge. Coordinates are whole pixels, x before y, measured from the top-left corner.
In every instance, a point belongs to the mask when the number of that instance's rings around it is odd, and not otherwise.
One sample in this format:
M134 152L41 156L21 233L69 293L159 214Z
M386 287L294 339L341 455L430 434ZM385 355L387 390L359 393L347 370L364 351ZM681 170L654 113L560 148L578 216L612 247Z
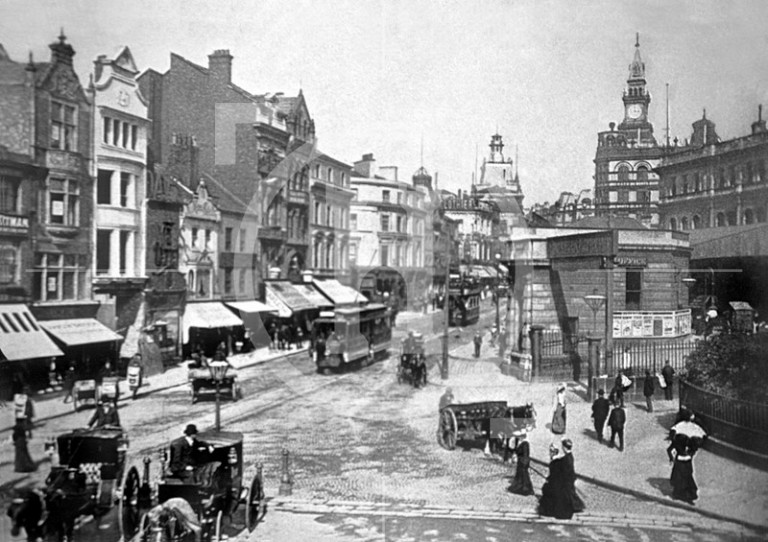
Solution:
M64 351L78 378L96 378L107 360L117 369L123 338L95 318L45 320L40 326Z

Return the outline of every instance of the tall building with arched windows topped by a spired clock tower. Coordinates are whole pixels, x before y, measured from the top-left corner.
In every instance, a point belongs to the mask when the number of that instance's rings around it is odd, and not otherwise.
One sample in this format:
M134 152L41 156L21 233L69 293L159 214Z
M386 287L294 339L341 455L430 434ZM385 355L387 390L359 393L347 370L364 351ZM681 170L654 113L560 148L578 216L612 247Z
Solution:
M629 65L624 90L624 120L609 124L598 134L595 154L595 213L635 218L646 226L659 225L659 183L655 167L664 148L653 135L648 112L651 94L646 88L645 63L640 42Z

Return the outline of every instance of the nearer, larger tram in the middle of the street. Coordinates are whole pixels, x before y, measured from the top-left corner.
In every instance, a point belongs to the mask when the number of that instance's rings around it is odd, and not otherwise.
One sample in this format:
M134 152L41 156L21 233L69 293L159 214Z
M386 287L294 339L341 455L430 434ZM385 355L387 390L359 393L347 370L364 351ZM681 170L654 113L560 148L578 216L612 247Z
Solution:
M318 372L386 357L392 342L390 309L379 303L322 311L312 323L312 359Z

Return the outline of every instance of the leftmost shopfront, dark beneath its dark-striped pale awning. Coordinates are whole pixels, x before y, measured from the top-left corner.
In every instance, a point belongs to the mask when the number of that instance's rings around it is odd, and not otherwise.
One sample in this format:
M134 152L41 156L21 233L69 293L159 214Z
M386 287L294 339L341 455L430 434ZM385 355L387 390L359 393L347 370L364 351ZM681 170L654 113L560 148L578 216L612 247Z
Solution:
M24 386L48 387L51 358L64 353L21 304L0 305L0 400L13 400Z

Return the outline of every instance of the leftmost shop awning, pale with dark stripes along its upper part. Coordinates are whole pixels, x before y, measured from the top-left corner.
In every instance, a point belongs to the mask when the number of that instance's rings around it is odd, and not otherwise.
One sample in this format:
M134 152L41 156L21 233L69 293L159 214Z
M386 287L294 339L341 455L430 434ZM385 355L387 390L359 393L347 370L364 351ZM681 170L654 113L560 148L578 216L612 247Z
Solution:
M26 305L0 305L0 352L8 361L63 356Z

